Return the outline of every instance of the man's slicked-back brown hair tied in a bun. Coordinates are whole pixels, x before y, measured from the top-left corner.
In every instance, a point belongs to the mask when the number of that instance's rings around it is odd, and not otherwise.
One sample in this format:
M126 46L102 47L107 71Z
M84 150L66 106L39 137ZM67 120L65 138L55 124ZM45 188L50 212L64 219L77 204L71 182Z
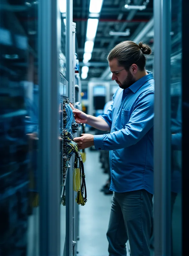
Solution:
M128 70L132 64L136 64L142 71L146 65L144 54L151 54L152 50L149 45L140 42L136 44L132 41L124 41L117 44L108 54L108 61L117 59L118 65Z

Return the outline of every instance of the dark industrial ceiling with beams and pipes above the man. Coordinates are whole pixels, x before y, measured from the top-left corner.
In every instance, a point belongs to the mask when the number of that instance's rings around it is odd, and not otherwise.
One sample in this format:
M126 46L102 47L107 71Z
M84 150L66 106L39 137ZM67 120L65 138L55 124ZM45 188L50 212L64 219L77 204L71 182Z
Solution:
M131 0L130 4L142 5L146 0ZM89 17L90 0L73 0L73 21L76 22L76 35L78 42L77 53L80 67L83 65L84 45L86 40L87 19ZM94 41L92 58L89 66L87 80L98 77L108 79L108 52L119 42L135 40L136 36L148 26L153 17L153 0L149 0L143 11L125 9L126 0L103 0L102 10L99 17L98 28ZM110 31L124 32L130 29L129 36L110 36ZM140 40L153 47L153 26L149 27L146 34ZM151 65L149 62L149 65ZM105 72L105 73L104 73ZM110 76L109 76L110 77Z

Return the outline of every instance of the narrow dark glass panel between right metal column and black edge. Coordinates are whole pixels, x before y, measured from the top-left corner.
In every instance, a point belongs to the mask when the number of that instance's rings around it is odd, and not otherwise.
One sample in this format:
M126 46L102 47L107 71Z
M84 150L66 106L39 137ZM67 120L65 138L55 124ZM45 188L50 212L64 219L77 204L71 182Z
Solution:
M171 244L182 255L182 1L171 0Z

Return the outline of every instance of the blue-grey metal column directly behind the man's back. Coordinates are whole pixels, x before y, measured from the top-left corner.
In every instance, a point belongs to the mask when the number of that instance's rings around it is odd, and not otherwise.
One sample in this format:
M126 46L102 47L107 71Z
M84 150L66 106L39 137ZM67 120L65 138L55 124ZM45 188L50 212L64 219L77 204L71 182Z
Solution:
M154 0L154 238L155 255L170 256L170 0Z

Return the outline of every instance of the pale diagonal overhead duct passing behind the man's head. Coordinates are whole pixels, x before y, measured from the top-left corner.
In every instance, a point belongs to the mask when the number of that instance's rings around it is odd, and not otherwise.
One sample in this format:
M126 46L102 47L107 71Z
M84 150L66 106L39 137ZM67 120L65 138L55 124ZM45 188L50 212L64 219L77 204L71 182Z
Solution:
M146 24L146 26L140 31L140 33L132 40L136 44L142 40L142 38L153 28L154 26L154 18L149 20L149 22ZM100 77L101 80L106 80L108 76L110 75L110 68L107 67L102 76Z

